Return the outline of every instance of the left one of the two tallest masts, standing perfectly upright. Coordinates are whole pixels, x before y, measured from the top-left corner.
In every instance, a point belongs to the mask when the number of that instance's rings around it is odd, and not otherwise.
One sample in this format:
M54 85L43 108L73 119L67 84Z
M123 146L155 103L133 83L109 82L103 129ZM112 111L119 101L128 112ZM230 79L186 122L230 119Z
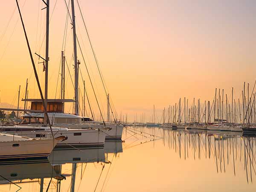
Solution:
M46 38L45 38L45 85L44 85L44 103L47 108L48 99L48 61L49 61L49 6L50 2L47 0L46 7ZM47 126L47 111L44 111L44 125Z

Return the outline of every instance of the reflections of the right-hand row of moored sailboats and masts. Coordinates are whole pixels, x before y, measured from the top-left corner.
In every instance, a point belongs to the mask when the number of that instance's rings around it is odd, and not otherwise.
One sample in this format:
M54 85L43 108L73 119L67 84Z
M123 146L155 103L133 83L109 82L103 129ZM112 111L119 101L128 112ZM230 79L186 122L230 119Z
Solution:
M168 143L170 149L178 152L179 158L201 160L213 158L217 173L225 173L227 166L236 167L244 164L247 182L253 182L256 176L256 137L244 137L241 132L209 132L202 130L164 130L163 143ZM230 170L230 169L229 169Z

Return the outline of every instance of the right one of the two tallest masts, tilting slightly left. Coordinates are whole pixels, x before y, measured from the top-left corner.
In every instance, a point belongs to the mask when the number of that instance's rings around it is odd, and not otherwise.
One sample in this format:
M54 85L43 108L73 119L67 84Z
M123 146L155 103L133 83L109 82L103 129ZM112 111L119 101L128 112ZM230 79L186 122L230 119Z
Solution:
M75 67L75 114L78 115L78 63L76 51L76 20L74 0L71 0L72 7L72 24L73 24L73 43L74 43L74 67Z

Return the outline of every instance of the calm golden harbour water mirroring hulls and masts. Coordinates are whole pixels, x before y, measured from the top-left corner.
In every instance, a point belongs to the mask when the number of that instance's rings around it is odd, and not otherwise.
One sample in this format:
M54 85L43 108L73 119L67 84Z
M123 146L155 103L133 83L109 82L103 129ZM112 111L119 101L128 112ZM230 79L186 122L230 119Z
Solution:
M44 162L0 165L0 192L256 190L255 138L129 127L122 139L101 149L54 151Z

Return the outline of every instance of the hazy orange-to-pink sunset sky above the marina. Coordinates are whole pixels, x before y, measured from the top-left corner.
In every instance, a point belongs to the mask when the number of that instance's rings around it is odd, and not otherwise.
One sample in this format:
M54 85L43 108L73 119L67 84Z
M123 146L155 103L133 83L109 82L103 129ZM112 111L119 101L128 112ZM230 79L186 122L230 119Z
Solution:
M67 14L64 0L57 0L53 10L55 2L50 0L49 98L55 98ZM153 104L162 109L178 102L179 97L190 101L193 97L212 100L215 87L224 89L228 96L234 87L238 98L244 81L253 86L256 1L79 0L79 3L116 111L128 113L132 120L136 112L145 112L149 120ZM46 10L41 10L44 5L41 0L20 0L20 6L23 6L32 52L44 55ZM19 85L24 97L26 78L29 97L39 98L15 8L15 0L5 1L0 7L0 97L1 102L8 103L17 103ZM76 20L84 57L106 111L103 88L77 5ZM69 20L65 55L73 76L71 27ZM38 62L38 57L34 58ZM80 52L78 58L82 60ZM37 66L44 87L42 64ZM81 62L81 71L97 113L84 62ZM68 73L66 76L66 96L73 98ZM79 84L82 89L82 82ZM56 98L59 89L58 84ZM69 109L69 112L72 111Z

